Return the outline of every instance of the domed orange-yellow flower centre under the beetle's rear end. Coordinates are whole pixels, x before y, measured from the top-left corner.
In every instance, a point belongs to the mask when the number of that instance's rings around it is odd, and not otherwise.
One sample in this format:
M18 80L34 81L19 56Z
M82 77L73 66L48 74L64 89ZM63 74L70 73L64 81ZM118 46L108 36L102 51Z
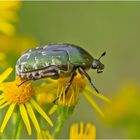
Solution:
M10 103L24 104L31 99L35 93L31 83L25 82L22 85L17 86L23 80L24 79L21 79L20 77L16 77L15 81L4 84L3 95L5 100Z

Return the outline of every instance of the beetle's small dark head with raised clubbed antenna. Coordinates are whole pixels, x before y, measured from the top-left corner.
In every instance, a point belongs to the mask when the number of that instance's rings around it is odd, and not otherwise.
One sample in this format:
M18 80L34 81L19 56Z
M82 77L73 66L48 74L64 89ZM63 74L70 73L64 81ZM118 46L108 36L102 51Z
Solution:
M102 55L98 59L94 59L92 63L92 69L97 69L97 73L103 72L104 64L100 62L100 59L105 56L106 52L102 53Z

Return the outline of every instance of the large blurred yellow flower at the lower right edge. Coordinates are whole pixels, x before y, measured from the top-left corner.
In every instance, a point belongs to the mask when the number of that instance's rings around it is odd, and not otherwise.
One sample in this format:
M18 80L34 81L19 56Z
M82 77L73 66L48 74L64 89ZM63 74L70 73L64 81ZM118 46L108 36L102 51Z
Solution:
M125 81L112 93L111 105L106 105L104 122L129 139L140 137L140 84ZM127 133L126 133L127 132Z

